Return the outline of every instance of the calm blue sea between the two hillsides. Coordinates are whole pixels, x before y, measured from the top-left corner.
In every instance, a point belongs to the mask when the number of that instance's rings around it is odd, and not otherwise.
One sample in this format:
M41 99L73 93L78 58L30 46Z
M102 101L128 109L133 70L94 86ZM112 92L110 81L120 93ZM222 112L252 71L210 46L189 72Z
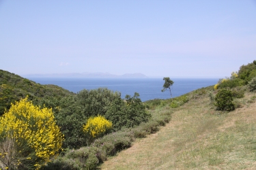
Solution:
M169 99L170 92L161 92L164 80L162 78L144 79L117 79L117 78L28 78L39 84L55 84L72 92L79 92L83 89L95 89L106 87L113 91L119 91L122 98L126 95L134 95L139 92L141 101L151 99ZM173 97L184 95L187 92L198 88L212 86L218 79L185 79L173 78L174 84L171 88Z

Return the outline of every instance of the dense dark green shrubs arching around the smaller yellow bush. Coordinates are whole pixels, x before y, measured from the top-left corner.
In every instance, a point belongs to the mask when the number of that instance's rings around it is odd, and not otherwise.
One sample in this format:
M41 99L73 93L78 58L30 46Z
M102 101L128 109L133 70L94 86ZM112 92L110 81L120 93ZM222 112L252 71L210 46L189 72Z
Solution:
M53 97L43 99L40 105L52 107L58 126L65 135L64 148L80 148L87 145L83 124L97 115L104 116L113 124L113 130L137 126L147 122L150 114L139 99L139 94L126 97L124 101L119 92L107 88L82 90L75 97Z

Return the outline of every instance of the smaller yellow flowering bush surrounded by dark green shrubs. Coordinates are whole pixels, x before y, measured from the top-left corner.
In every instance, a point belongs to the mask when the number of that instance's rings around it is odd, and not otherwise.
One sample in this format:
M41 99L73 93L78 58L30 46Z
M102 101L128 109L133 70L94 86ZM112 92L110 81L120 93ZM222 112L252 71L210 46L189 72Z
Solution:
M89 137L96 138L104 135L107 131L112 129L112 122L106 120L103 116L96 116L89 118L87 123L83 126L83 131Z

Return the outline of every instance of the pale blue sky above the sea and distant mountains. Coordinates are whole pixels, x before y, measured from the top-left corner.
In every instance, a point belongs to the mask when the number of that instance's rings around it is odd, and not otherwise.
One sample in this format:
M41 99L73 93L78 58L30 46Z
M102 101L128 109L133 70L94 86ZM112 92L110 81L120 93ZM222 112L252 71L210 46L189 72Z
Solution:
M256 60L256 1L1 1L0 69L225 78Z

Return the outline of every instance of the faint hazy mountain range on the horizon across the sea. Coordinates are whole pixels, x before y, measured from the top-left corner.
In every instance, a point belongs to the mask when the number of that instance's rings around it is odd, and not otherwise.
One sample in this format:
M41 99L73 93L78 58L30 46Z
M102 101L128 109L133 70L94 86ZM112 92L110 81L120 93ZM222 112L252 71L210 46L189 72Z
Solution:
M27 74L26 78L147 78L142 73L126 73L114 75L111 73L47 73L47 74Z

